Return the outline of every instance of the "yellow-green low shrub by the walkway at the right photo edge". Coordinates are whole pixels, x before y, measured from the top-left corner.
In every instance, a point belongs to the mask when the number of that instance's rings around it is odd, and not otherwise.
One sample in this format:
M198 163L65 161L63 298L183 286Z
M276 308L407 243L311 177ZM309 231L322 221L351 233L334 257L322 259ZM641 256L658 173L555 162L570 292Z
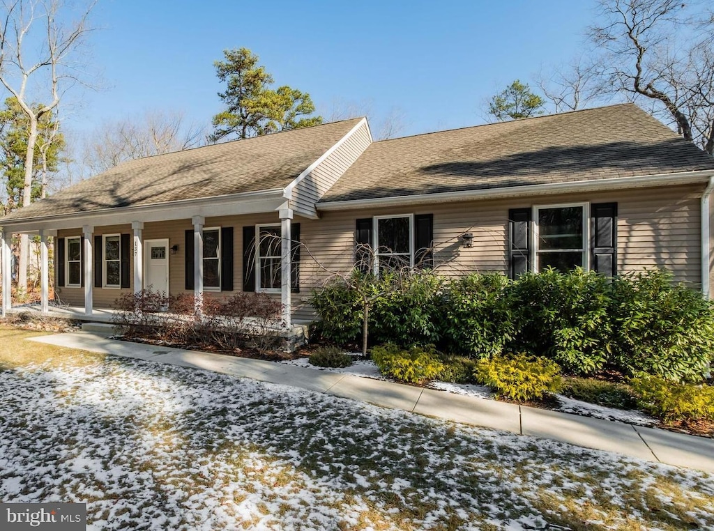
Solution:
M677 383L658 376L633 378L638 407L665 423L714 421L714 387Z

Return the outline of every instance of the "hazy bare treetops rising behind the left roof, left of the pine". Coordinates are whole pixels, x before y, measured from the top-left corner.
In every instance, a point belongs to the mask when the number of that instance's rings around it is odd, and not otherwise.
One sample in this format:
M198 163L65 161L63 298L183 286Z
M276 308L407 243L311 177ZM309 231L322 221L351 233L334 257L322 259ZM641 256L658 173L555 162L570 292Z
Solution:
M131 161L199 146L204 130L186 123L181 112L147 111L96 128L84 143L83 161L89 175Z

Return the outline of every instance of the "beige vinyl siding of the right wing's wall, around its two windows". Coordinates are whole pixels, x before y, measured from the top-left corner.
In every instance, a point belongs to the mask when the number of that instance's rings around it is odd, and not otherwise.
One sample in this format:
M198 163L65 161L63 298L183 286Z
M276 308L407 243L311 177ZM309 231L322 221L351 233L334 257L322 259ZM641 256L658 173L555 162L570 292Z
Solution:
M431 207L325 211L320 220L303 223L303 243L321 265L313 258L303 258L301 286L304 289L299 295L293 295L293 315L296 319L311 319L309 287L321 285L351 268L356 219L406 213L433 214L434 260L441 273L497 271L507 274L509 209L576 202L618 203L618 273L666 268L673 272L676 281L697 288L700 284L699 198L702 191L703 186L688 185L438 203ZM473 247L461 245L463 233L473 233Z

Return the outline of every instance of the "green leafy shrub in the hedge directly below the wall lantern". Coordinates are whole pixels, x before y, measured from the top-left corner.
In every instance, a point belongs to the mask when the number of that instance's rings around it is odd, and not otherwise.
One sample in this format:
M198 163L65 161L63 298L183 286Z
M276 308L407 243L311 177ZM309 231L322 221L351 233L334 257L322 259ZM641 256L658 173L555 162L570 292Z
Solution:
M500 354L513 335L504 275L472 273L446 283L439 298L443 348L471 358Z

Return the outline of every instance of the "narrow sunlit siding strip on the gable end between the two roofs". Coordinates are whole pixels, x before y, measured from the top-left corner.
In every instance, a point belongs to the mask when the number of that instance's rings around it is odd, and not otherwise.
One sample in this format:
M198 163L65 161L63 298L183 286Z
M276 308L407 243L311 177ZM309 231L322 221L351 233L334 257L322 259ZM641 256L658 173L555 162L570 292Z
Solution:
M291 201L296 213L306 216L315 215L315 203L337 182L338 178L352 166L364 150L371 143L367 122L356 129L346 140L325 160L318 164L308 175L300 181L293 190Z

